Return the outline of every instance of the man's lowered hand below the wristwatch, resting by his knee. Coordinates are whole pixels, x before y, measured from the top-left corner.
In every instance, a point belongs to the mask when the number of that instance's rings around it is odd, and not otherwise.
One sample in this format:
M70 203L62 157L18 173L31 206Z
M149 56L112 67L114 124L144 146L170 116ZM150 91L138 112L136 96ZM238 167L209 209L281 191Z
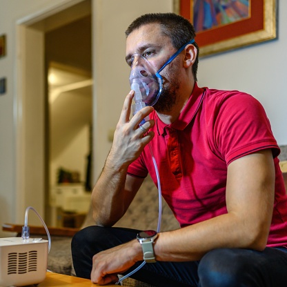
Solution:
M102 251L92 257L92 283L106 285L117 282L121 274L143 259L141 245L137 240Z

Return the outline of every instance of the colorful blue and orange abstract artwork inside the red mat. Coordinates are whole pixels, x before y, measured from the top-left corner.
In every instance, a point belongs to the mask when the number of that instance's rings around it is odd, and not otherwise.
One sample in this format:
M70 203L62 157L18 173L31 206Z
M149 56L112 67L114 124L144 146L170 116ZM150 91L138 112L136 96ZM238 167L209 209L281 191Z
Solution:
M219 28L250 17L250 0L196 0L193 24L197 32Z

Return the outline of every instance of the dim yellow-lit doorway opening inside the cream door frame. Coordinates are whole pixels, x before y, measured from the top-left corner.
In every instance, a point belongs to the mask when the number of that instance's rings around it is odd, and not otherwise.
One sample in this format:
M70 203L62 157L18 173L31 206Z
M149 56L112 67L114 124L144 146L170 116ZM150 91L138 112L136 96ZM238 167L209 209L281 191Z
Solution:
M79 227L90 206L90 14L45 33L50 226Z

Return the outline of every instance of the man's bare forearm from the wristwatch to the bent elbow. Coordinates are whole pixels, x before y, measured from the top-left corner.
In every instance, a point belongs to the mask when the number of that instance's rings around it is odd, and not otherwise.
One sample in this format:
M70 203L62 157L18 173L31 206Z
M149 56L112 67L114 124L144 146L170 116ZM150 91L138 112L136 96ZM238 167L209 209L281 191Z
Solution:
M220 215L207 221L159 234L155 243L158 261L200 260L216 248L248 248L263 250L268 232L251 231L237 216ZM249 232L250 231L250 232Z

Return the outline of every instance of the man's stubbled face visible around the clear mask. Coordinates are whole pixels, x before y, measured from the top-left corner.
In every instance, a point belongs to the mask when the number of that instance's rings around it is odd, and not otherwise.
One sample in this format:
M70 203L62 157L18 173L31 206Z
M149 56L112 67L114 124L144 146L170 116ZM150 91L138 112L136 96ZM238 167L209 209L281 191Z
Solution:
M126 40L126 61L138 53L159 70L177 50L172 46L170 38L165 36L159 24L148 24L134 30ZM163 90L154 108L158 112L168 112L177 102L179 90L179 56L160 72L164 79Z

